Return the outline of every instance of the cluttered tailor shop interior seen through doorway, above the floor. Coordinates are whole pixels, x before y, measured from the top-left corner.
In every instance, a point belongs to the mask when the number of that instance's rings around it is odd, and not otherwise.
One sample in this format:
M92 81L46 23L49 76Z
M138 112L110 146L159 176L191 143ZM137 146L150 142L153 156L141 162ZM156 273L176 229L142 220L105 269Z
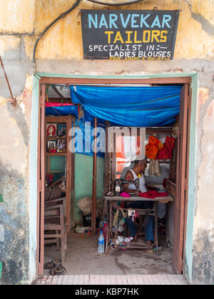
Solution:
M181 89L46 85L45 268L81 246L172 251Z

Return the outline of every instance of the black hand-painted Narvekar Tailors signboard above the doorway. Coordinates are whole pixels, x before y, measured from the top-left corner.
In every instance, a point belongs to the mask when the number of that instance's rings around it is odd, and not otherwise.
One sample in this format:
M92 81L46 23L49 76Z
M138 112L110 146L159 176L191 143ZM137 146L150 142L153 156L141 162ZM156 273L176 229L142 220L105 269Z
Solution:
M178 28L176 11L81 10L85 59L168 61Z

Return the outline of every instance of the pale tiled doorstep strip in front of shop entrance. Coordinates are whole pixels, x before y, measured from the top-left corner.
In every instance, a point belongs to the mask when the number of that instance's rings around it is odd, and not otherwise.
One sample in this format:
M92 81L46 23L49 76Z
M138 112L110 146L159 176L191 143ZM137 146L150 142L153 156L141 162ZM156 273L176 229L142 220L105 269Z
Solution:
M34 285L188 285L180 275L44 276Z

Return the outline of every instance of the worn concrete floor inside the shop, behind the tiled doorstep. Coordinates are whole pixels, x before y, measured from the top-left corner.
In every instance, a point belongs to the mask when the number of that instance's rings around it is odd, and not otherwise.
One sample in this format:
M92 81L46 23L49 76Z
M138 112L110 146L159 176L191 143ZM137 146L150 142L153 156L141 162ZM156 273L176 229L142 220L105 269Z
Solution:
M141 243L138 239L137 243ZM172 248L159 241L161 251L121 251L110 250L108 255L98 253L98 234L72 233L68 238L66 275L155 275L173 274ZM45 248L45 263L53 258L61 258L56 246ZM49 275L49 271L44 271Z

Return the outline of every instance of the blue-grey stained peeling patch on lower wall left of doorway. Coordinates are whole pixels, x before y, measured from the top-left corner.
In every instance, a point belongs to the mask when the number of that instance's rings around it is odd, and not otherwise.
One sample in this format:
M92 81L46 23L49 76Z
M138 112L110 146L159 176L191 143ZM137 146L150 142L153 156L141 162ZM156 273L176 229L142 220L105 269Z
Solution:
M3 263L1 284L27 280L29 231L26 209L26 180L0 159L0 190L4 204L0 205L0 261ZM4 238L3 238L4 236Z

